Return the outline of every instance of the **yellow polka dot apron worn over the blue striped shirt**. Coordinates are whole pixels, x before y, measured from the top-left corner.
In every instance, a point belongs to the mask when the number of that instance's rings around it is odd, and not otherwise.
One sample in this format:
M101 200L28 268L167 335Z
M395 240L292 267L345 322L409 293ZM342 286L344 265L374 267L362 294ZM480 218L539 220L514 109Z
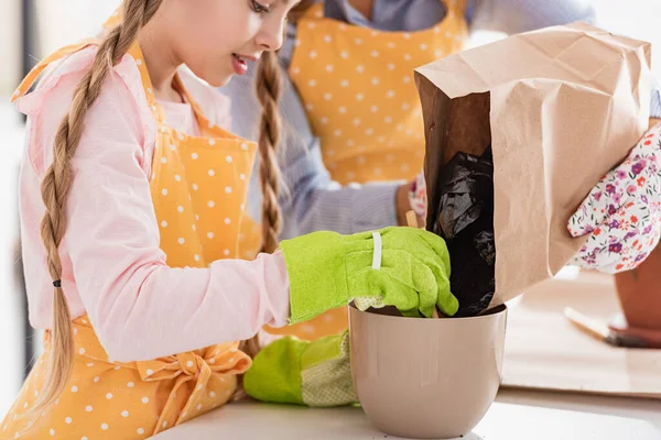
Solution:
M343 185L411 179L422 170L424 125L413 70L462 50L464 2L419 32L383 32L324 18L316 3L297 23L290 77L321 139L324 163ZM346 308L271 334L317 339L346 329Z

